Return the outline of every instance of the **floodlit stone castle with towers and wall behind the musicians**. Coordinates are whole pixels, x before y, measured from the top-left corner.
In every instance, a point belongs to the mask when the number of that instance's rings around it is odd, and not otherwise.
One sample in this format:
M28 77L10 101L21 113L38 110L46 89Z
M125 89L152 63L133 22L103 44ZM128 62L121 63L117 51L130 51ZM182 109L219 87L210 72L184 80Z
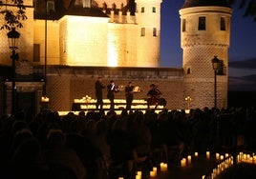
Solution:
M133 81L144 92L136 98L144 98L151 83L158 84L167 109L212 108L211 60L218 56L222 73L217 75L217 106L226 108L229 4L185 0L179 11L182 68L173 69L160 68L161 2L25 0L28 19L19 30L20 60L16 63L18 106L27 104L37 112L41 96L47 93L49 108L70 110L75 98L85 94L94 98L96 77L102 76L105 83L110 79L121 85ZM2 39L6 33L0 30ZM0 65L5 69L11 66L8 41L2 40L0 47ZM1 75L0 98L5 101L1 110L10 112L11 77ZM119 92L117 98L124 95Z

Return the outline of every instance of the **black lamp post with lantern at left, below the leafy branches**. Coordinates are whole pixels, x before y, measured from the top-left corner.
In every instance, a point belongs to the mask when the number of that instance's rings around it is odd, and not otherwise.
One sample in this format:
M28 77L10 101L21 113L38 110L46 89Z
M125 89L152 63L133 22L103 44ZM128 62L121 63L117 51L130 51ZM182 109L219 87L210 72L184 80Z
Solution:
M11 79L11 113L15 113L16 109L16 72L15 72L15 61L18 60L19 54L16 53L17 48L17 40L20 36L20 33L15 30L15 28L11 28L11 30L7 33L8 36L8 42L9 42L9 48L11 49L11 73L12 73L12 79Z

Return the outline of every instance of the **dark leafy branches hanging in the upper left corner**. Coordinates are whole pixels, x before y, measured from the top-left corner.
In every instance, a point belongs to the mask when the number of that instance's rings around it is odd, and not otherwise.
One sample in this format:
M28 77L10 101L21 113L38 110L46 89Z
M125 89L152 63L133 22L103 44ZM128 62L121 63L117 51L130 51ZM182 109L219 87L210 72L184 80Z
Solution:
M3 7L6 7L5 10L1 10ZM13 7L16 7L17 10L13 10ZM0 0L0 13L4 16L4 24L1 26L0 30L23 28L21 21L28 19L25 10L23 0L11 0L11 4L5 4Z

